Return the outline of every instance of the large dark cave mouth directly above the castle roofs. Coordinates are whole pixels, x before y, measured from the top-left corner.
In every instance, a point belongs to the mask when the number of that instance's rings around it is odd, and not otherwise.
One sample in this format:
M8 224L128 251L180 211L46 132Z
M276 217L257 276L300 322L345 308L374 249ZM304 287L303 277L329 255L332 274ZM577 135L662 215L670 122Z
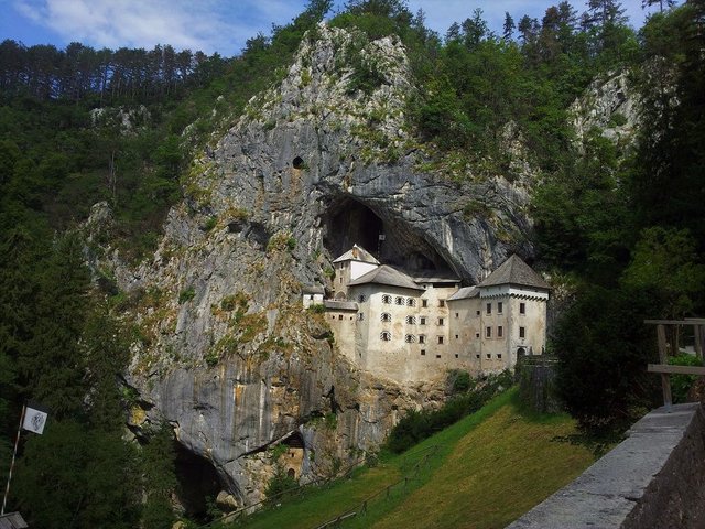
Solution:
M372 208L351 197L333 201L324 217L323 244L337 258L358 245L382 264L410 272L453 273L448 263L419 233L403 220L378 215Z

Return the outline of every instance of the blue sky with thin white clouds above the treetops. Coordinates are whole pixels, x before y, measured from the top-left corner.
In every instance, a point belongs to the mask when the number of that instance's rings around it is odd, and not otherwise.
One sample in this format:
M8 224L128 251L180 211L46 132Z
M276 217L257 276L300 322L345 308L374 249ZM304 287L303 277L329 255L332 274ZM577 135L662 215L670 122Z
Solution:
M501 33L505 12L518 21L529 14L539 20L560 0L408 0L409 9L426 13L426 25L441 35L453 22L484 12L490 29ZM230 57L259 32L285 24L306 0L0 0L0 41L12 39L28 46L70 42L101 48L171 44ZM337 8L345 3L336 0ZM583 12L585 2L573 0ZM622 0L633 26L641 26L641 0Z

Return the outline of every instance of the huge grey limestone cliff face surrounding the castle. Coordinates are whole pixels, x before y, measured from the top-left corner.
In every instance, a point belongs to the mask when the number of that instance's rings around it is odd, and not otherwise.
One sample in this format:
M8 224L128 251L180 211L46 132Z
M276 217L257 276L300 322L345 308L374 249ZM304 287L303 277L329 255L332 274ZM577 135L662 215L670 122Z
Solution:
M302 287L329 285L335 257L357 242L475 283L510 252L531 255L531 175L460 184L431 171L405 120L413 89L399 42L319 26L194 162L154 259L116 270L137 300L133 415L170 421L241 504L262 497L262 451L291 432L306 481L375 450L399 410L443 399L442 381L358 370L302 310Z

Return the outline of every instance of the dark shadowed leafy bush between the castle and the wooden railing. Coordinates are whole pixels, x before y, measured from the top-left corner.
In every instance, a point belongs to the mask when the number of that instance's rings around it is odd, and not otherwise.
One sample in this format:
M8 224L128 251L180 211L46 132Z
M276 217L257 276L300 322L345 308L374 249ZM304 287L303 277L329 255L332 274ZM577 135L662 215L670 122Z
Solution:
M553 344L556 386L584 429L625 428L655 403L658 377L647 373L655 339L643 324L654 301L649 291L592 284L561 319Z

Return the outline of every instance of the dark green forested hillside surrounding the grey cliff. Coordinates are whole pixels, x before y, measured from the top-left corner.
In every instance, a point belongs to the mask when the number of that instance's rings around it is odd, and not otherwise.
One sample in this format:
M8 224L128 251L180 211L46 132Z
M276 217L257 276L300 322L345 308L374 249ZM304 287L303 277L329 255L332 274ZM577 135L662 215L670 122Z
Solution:
M471 168L475 179L511 180L514 163L536 168L531 244L566 307L552 348L568 408L585 428L612 429L650 406L659 393L643 319L705 309L705 2L646 3L638 31L618 1L589 0L585 12L561 2L541 20L507 13L501 34L475 10L440 35L403 0L350 0L333 17L329 0L311 0L230 58L0 44L2 483L22 402L42 401L52 421L21 442L12 508L43 528L176 519L171 432L124 438L135 396L121 374L139 330L115 278L85 266L99 245L86 248L82 225L105 201L121 258L153 251L194 154L281 80L324 17L368 40L401 39L416 84L406 112L438 177ZM377 68L360 58L351 89L373 90ZM640 95L634 141L597 129L578 141L571 105L617 73Z

